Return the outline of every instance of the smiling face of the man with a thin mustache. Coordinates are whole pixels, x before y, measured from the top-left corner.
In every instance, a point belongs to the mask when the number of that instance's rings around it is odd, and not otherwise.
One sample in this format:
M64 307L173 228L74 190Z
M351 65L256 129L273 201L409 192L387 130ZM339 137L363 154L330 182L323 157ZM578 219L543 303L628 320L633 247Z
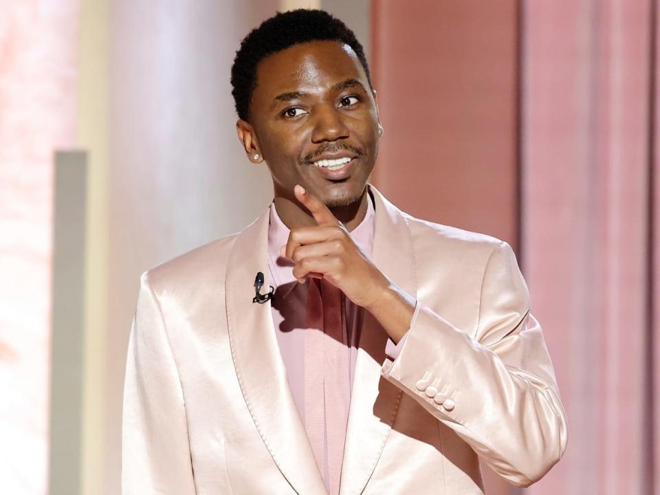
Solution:
M264 58L250 120L276 196L293 199L300 184L331 208L360 199L375 164L379 120L351 47L313 41ZM325 161L332 159L340 162Z

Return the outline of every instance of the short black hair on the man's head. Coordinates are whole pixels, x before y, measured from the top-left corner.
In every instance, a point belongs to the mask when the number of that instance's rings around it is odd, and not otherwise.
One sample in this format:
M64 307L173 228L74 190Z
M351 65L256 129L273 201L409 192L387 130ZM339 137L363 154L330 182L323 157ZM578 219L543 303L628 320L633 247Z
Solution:
M297 9L278 12L250 31L241 41L232 65L232 96L239 118L250 118L250 100L256 87L256 67L263 58L309 41L339 41L349 45L371 84L369 64L355 34L325 10Z

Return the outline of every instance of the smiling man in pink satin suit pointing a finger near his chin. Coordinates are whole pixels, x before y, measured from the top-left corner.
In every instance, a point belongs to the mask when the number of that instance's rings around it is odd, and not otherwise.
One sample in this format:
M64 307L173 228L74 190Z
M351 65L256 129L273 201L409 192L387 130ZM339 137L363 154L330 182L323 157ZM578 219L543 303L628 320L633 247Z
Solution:
M353 33L277 14L232 85L274 201L142 275L124 493L481 494L479 459L541 478L566 419L514 253L368 184L382 125Z

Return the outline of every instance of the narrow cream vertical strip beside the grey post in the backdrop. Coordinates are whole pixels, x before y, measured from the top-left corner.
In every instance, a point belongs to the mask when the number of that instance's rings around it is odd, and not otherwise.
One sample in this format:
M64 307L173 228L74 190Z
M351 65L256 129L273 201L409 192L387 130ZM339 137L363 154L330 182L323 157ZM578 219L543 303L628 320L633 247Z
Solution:
M108 1L80 2L78 147L87 151L85 349L80 491L98 494L105 459L105 338L108 329Z

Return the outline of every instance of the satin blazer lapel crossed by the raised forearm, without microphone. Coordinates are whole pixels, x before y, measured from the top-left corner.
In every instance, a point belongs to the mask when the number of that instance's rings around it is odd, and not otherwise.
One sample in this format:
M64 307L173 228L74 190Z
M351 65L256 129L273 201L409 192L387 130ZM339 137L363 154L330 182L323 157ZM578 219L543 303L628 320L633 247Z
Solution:
M375 203L373 263L401 289L417 294L412 237L405 214L369 184ZM381 377L387 334L364 312L344 446L341 495L362 493L376 467L402 391Z

